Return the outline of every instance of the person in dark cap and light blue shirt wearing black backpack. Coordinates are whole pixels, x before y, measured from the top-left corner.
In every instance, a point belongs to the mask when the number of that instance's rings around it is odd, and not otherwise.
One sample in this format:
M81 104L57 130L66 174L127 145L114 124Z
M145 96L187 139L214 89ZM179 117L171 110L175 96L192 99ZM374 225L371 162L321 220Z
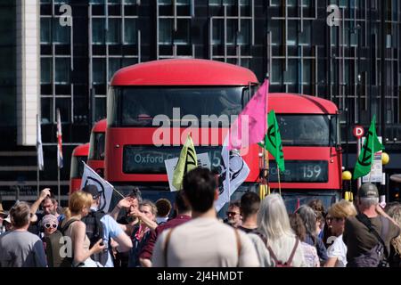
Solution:
M86 235L93 247L97 240L102 239L105 249L94 254L92 259L104 267L114 267L111 256L111 239L118 243L116 249L119 252L126 252L132 248L132 241L120 225L110 216L99 210L100 194L95 185L86 185L82 190L92 196L93 202L87 216L82 218L86 224Z

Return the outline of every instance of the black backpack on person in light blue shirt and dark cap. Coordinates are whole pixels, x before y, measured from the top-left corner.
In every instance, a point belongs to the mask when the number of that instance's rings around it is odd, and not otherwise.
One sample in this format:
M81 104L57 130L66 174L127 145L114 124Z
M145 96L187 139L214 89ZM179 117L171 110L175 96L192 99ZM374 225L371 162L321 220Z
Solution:
M101 240L103 237L103 224L101 222L102 217L106 215L102 211L91 210L89 214L81 219L86 224L86 235L90 241L90 248L94 244ZM110 239L108 240L108 249L110 250ZM102 250L102 252L91 256L94 261L99 262L101 265L106 265L107 259L109 258L108 250Z

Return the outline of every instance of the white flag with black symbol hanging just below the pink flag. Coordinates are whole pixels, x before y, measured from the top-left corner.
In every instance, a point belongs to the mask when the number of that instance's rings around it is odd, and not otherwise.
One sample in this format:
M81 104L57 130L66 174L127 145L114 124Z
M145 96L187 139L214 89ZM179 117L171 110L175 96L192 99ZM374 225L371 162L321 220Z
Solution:
M221 151L222 165L220 173L220 181L223 183L219 185L218 199L215 203L217 212L225 206L225 203L230 201L231 195L241 186L241 183L247 179L250 174L250 167L241 158L239 151L228 151L227 143L228 135L225 137L223 148Z

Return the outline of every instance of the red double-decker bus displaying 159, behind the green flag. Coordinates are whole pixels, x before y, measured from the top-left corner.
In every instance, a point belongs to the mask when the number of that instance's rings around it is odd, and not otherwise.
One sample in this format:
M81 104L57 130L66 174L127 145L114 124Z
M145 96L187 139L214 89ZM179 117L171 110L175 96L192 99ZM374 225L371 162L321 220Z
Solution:
M337 106L322 98L300 94L269 94L282 137L285 172L280 175L287 208L309 199L326 207L340 199L342 162ZM277 165L270 156L269 184L279 188Z

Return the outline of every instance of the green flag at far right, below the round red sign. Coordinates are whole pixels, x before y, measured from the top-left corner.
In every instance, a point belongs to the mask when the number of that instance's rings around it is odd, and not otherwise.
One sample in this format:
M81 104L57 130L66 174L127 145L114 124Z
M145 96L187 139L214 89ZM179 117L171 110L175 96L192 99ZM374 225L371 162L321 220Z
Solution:
M383 145L379 142L377 137L375 125L376 116L373 115L371 126L364 140L364 146L362 147L361 153L359 153L359 158L356 160L353 179L369 174L369 172L371 172L374 153L384 150Z

